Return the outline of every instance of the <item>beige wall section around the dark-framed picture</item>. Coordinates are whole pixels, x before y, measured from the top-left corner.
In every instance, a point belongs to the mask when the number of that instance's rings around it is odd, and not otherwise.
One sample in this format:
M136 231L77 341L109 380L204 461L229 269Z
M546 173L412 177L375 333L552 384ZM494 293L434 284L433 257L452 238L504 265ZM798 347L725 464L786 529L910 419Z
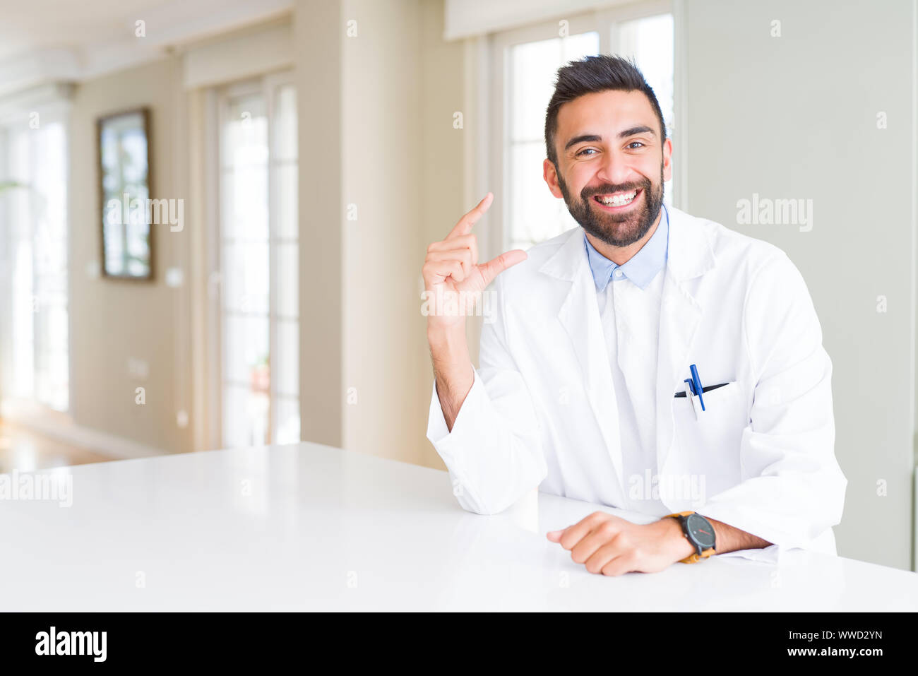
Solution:
M177 411L190 406L185 288L166 287L168 267L184 265L191 227L156 226L154 279L129 282L87 275L99 265L95 120L131 107L151 108L151 197L184 198L185 96L177 59L164 59L80 84L70 123L71 409L74 422L167 451L191 450L191 426ZM146 380L129 376L129 359L146 361ZM146 403L135 403L143 387Z

